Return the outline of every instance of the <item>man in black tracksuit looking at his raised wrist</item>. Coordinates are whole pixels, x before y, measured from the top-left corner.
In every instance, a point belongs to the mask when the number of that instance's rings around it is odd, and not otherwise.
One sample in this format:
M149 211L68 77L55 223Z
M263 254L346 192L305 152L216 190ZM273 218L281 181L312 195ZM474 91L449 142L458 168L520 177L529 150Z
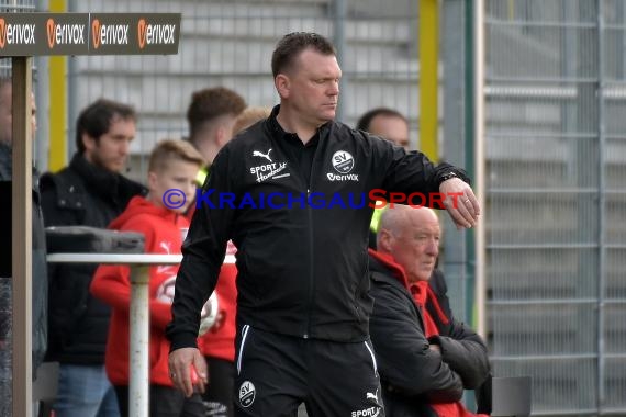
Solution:
M294 44L294 61L281 69L277 55ZM281 105L217 155L183 244L167 329L172 380L190 395L190 363L206 377L194 349L199 313L232 238L238 416L294 415L301 402L310 416L383 416L368 331L367 194L449 190L474 199L451 178L465 178L461 170L332 120L340 71L328 45L306 33L279 43L272 67Z

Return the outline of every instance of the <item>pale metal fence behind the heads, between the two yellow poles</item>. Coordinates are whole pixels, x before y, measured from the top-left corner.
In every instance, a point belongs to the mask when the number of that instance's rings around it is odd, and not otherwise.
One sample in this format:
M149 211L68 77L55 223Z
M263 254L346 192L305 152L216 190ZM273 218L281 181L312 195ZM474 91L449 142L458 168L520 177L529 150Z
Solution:
M276 42L292 31L331 37L344 72L339 117L354 124L372 106L388 105L411 119L417 143L417 4L393 0L70 1L74 12L180 12L179 54L69 59L68 137L80 109L109 97L138 113L133 171L144 180L145 156L165 137L188 133L185 114L195 90L223 86L249 105L278 102L270 71ZM71 140L70 140L71 142ZM70 151L74 148L70 146Z

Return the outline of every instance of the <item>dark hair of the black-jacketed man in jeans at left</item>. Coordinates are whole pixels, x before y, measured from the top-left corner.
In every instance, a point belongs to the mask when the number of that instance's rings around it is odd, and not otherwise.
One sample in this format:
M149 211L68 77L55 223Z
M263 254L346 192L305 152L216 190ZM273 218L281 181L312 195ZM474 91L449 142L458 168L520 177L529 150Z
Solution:
M100 140L100 136L104 135L111 128L113 119L120 117L122 120L137 120L137 113L131 105L118 103L108 99L99 99L85 108L78 115L76 122L76 147L80 154L83 154L86 148L82 143L82 135L87 133L96 139Z

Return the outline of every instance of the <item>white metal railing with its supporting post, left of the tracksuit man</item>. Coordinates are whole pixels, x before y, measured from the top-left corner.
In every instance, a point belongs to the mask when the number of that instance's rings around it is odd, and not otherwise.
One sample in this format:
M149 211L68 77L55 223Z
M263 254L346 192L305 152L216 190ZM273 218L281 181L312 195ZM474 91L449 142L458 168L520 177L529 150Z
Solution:
M52 253L48 262L109 263L131 267L131 380L128 386L128 415L148 417L149 404L149 301L148 267L178 264L182 255L149 253ZM226 256L224 263L235 263Z

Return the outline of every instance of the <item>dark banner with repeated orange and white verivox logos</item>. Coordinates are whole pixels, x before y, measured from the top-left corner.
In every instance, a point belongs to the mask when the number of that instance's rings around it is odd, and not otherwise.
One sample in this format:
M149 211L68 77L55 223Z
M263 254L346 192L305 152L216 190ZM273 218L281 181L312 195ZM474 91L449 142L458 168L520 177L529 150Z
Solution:
M0 56L169 55L180 13L0 13Z

